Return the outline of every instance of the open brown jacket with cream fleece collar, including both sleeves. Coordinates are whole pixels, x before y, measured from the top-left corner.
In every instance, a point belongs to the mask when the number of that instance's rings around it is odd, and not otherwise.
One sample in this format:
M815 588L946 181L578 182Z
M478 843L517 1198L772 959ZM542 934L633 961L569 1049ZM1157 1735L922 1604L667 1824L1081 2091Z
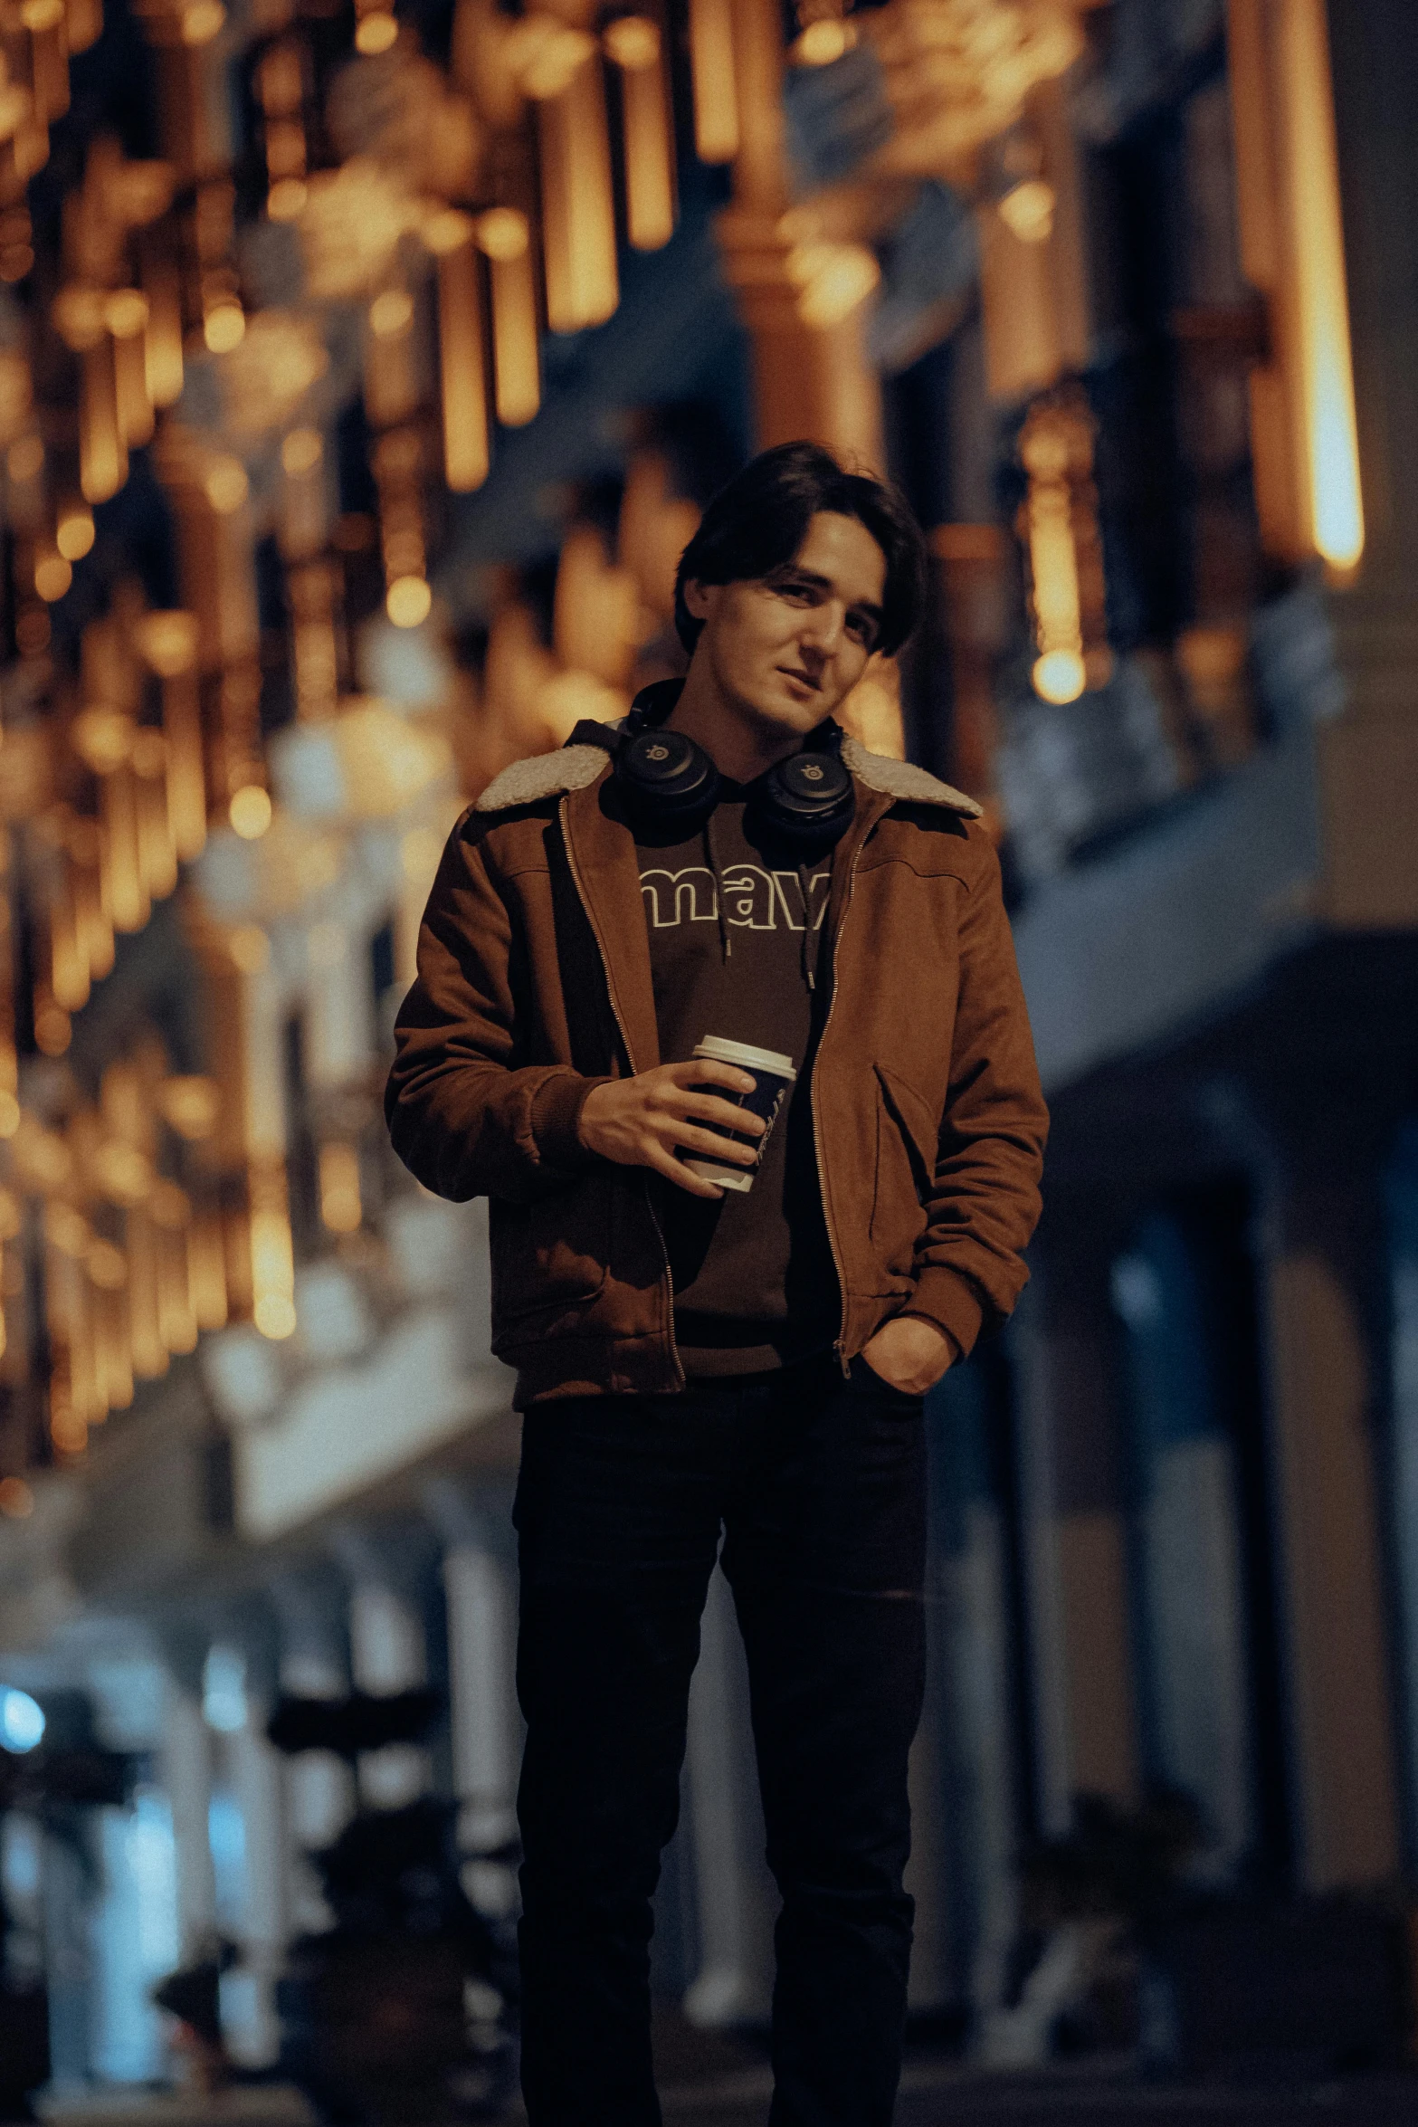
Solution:
M846 1366L908 1308L969 1351L1040 1212L1040 1093L999 864L974 800L846 740L827 902L816 1163ZM659 1064L636 844L600 747L504 770L457 823L385 1115L419 1180L491 1200L493 1351L534 1397L680 1389L642 1168L587 1153L593 1085Z

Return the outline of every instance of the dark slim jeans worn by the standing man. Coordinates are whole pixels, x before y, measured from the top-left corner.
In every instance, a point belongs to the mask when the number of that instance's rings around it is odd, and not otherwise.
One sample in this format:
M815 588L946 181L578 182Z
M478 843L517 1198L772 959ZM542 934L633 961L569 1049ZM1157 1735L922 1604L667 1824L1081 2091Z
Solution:
M534 1406L517 1487L531 2127L659 2127L651 1897L719 1551L782 1893L772 2127L889 2127L925 1672L921 1397L857 1361Z

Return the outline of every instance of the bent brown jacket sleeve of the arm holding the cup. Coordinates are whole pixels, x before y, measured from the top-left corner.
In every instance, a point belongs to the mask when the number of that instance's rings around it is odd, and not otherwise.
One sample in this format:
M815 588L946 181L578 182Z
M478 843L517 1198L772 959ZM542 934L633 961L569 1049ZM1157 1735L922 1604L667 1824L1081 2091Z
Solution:
M523 1064L514 938L472 815L449 836L419 927L419 974L393 1023L385 1119L436 1195L531 1202L591 1161L580 1108L600 1078Z

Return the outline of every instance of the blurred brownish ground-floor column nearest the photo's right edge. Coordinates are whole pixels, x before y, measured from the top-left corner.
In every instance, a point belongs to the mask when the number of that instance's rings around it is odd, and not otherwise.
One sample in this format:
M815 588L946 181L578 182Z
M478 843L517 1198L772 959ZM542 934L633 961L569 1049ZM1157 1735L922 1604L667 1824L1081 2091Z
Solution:
M1388 1393L1378 1104L1271 1117L1261 1221L1297 1874L1399 1868L1395 1651L1378 1504ZM1358 1112L1361 1110L1361 1112Z

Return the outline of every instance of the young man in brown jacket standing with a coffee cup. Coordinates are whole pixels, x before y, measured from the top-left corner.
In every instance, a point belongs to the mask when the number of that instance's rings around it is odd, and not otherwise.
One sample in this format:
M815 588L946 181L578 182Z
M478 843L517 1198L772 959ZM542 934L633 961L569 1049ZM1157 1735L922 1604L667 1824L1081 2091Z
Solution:
M525 1412L534 2127L659 2121L651 1893L721 1536L782 1893L772 2121L891 2121L923 1395L1018 1297L1046 1132L980 808L831 721L923 579L891 489L755 459L680 562L682 687L463 815L400 1012L393 1142L491 1200ZM795 1070L767 1132L706 1038Z

